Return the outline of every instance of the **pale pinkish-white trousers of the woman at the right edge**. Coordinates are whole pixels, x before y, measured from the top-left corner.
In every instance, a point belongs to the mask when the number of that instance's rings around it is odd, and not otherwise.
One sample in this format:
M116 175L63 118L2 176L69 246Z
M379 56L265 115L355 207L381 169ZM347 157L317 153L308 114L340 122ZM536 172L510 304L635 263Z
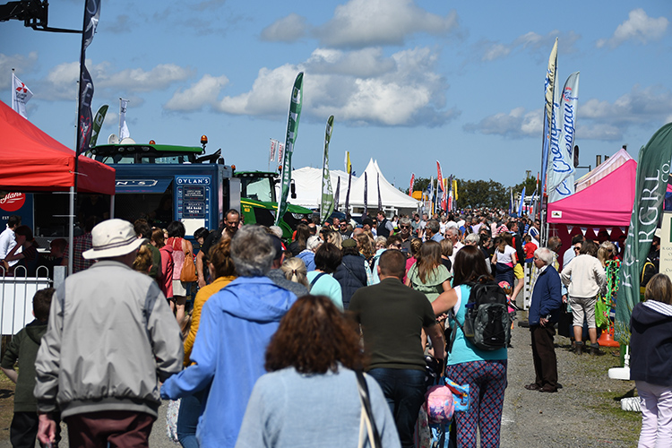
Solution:
M663 448L672 440L672 387L635 381L642 403L639 448Z

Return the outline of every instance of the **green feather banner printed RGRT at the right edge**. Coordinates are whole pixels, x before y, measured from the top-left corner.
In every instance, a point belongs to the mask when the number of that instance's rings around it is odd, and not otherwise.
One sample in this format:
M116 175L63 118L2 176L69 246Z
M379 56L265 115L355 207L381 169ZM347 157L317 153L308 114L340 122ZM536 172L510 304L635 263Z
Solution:
M659 226L672 159L672 123L661 127L640 150L633 215L625 239L621 265L621 287L616 298L615 337L630 343L630 315L640 301L642 267L649 254L653 234Z

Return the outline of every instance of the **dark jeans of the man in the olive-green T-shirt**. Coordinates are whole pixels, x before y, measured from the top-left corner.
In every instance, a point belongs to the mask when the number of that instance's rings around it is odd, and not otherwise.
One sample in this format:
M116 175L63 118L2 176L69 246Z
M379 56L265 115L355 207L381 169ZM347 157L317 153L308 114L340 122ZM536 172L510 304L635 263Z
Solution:
M425 371L374 368L366 373L373 376L383 389L397 425L401 446L412 448L418 412L425 401Z

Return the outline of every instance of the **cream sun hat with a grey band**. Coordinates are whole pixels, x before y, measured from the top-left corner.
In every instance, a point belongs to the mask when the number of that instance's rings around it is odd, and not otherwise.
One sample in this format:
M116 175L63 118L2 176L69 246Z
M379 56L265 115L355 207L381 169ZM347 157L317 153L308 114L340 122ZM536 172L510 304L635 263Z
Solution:
M91 230L91 243L93 248L82 253L86 260L130 254L146 244L147 238L139 238L126 220L104 220Z

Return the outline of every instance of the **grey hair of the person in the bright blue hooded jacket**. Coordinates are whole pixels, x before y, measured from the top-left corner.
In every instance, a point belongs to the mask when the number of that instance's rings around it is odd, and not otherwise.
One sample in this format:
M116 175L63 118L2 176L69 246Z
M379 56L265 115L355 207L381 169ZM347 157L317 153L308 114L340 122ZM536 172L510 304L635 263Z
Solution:
M261 226L243 226L231 240L231 258L239 276L263 277L275 258L271 236Z

